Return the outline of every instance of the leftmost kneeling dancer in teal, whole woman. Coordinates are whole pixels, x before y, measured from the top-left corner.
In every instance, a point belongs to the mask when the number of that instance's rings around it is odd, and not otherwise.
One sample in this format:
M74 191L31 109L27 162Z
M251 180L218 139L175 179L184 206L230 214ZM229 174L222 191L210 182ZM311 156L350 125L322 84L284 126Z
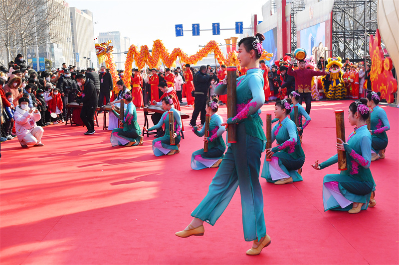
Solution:
M115 128L111 133L111 145L112 146L135 146L143 144L143 136L141 136L141 130L139 123L137 122L136 107L132 102L132 93L127 91L123 98L126 100L127 108L124 113L124 120L119 121L119 125L123 128ZM119 119L119 114L114 110L112 105L112 112Z

